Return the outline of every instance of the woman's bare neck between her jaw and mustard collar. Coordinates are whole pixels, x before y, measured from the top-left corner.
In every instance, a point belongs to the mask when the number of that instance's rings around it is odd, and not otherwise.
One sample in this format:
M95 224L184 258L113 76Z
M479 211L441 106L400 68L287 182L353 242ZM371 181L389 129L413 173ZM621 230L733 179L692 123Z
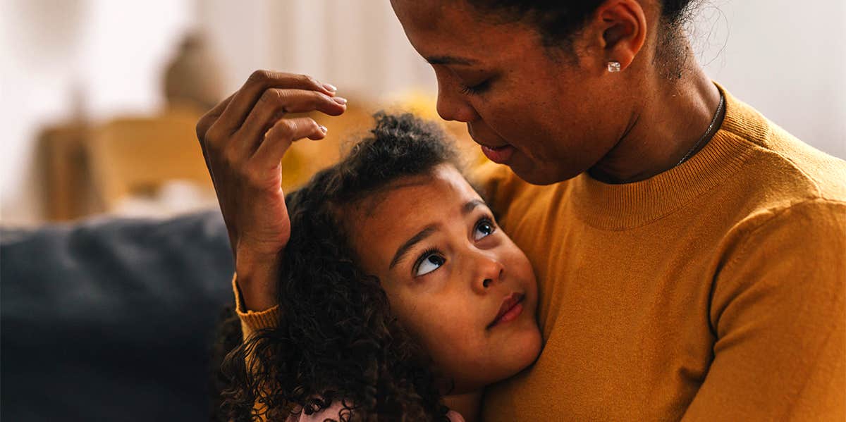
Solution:
M720 101L717 86L693 58L686 63L682 79L654 78L645 84L650 94L636 106L629 128L591 167L591 177L607 184L645 180L675 167L702 140ZM702 140L695 149L706 143L707 139Z

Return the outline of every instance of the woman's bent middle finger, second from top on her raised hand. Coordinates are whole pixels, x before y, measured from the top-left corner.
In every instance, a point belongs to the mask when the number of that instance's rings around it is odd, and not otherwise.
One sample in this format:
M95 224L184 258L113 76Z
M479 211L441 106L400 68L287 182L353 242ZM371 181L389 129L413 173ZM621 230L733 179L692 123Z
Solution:
M264 91L247 116L238 136L246 151L255 151L261 143L261 136L270 129L279 118L288 112L310 112L317 110L330 116L337 116L346 109L346 100L331 97L314 90L283 90L270 88Z

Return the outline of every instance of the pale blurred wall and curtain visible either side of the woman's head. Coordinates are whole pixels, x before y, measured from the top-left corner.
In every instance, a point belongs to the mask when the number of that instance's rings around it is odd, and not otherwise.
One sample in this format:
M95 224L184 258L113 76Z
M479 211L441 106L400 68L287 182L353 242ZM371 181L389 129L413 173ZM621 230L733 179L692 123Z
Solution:
M708 74L846 158L846 2L706 3L693 39ZM387 0L0 0L3 223L41 220L36 131L69 118L74 90L96 120L154 112L162 67L195 25L216 49L227 91L253 69L311 74L369 99L435 90Z

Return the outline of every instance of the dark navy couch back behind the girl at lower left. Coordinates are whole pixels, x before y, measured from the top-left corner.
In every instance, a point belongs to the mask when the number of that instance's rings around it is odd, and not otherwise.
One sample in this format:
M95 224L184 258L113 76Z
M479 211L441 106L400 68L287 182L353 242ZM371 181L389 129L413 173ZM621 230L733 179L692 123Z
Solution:
M208 420L219 211L0 229L0 419Z

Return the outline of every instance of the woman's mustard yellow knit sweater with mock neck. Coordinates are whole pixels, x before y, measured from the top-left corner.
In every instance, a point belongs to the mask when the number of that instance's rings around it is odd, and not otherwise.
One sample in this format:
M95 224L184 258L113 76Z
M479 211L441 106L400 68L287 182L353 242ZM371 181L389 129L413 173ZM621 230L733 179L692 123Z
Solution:
M642 182L479 169L544 340L487 422L846 419L846 162L725 95L705 148ZM239 308L245 335L276 311Z

